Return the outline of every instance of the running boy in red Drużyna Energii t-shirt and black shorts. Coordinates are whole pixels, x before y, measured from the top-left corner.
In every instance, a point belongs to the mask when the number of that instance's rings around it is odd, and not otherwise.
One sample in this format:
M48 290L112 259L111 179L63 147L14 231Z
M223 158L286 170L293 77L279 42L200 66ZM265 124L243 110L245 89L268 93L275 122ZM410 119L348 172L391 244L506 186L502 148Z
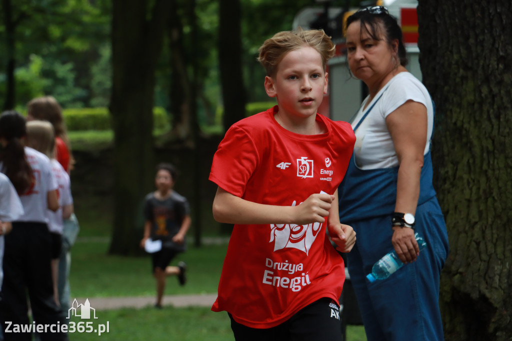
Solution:
M214 156L214 217L234 228L212 310L229 313L237 340L341 339L345 270L327 231L338 250L352 249L337 187L355 137L317 114L333 54L324 31L267 39L258 59L278 105L233 124Z

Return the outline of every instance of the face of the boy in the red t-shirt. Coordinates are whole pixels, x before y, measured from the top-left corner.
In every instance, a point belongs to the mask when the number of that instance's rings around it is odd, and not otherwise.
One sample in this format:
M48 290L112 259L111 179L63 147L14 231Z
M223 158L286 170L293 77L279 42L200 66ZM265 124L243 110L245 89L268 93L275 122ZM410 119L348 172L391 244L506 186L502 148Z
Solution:
M265 77L265 90L276 97L280 115L307 118L316 114L327 93L322 56L312 47L288 52L274 77Z

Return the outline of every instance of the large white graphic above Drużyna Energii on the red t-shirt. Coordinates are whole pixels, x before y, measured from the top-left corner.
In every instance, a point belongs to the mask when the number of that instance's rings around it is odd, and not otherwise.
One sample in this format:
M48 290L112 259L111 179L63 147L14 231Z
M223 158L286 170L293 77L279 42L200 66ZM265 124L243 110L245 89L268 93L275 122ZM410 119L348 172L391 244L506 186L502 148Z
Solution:
M293 201L292 206L296 205ZM270 241L275 240L274 251L284 248L295 248L309 253L309 249L318 236L322 223L311 223L307 225L297 224L270 224Z

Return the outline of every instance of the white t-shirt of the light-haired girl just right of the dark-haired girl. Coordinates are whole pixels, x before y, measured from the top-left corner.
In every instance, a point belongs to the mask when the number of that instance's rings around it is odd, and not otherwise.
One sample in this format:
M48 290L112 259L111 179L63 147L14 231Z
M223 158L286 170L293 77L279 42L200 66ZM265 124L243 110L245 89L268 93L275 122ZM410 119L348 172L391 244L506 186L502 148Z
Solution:
M59 197L59 209L54 212L47 210L48 214L48 229L50 232L62 234L64 225L62 223L62 207L68 206L73 203L73 197L71 196L71 181L68 172L60 165L60 163L52 159L50 160L52 165L52 172L55 175L55 179L58 184L58 197Z

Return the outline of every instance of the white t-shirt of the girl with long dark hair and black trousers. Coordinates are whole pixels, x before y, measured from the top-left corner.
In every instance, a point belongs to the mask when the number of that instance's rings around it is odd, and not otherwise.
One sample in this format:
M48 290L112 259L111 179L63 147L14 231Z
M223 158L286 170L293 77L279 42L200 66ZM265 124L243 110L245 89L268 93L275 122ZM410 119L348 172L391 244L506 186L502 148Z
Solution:
M32 167L35 181L26 193L19 196L25 214L19 217L17 221L47 223L48 192L58 188L50 159L30 147L25 147L25 155Z

